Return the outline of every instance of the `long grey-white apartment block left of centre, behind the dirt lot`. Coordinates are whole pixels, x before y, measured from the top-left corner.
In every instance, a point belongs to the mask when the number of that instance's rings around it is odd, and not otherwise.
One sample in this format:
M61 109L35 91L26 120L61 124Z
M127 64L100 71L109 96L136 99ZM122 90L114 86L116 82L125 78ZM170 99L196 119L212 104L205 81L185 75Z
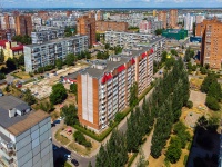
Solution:
M65 60L68 53L78 53L89 48L87 36L56 39L40 45L24 46L24 67L32 72L39 67L54 65L57 59Z

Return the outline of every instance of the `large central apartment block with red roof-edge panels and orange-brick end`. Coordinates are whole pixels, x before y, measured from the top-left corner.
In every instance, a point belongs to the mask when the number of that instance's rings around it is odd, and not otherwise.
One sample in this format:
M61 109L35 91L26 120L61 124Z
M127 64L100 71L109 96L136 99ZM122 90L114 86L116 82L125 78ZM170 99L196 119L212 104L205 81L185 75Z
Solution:
M95 61L78 75L78 116L83 126L100 131L129 106L130 88L139 95L151 84L153 49L133 47L108 60Z

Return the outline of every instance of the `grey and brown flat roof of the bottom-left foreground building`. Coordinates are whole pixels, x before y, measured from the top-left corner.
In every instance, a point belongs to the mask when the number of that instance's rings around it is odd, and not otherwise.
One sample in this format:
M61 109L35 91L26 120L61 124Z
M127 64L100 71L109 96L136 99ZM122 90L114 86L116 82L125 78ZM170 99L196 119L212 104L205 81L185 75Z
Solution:
M0 97L0 126L14 136L18 136L26 130L30 129L38 122L50 117L42 110L31 110L23 116L9 117L9 109L20 107L26 109L29 107L26 102L13 96Z

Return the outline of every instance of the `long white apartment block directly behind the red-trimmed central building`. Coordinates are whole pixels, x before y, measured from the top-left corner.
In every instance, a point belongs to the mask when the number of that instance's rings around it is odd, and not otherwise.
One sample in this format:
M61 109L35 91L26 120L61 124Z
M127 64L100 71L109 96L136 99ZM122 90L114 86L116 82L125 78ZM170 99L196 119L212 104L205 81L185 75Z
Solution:
M149 46L154 49L154 60L160 60L161 53L165 49L165 37L145 33L105 31L105 43L110 43L111 47L120 46L124 49L137 45Z

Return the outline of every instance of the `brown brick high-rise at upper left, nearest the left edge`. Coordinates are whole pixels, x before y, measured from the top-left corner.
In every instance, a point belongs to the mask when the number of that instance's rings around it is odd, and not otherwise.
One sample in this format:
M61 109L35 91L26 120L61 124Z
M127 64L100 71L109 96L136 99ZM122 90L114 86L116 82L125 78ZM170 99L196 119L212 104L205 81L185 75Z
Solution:
M16 33L31 36L32 20L30 16L17 16L16 17Z

